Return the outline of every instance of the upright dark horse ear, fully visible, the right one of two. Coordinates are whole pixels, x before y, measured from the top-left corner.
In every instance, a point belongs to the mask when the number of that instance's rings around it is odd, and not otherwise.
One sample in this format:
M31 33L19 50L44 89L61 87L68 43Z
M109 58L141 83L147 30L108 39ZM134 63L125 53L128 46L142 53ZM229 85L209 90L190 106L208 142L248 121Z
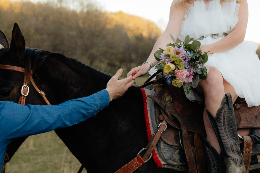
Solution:
M25 40L23 37L23 33L19 28L19 26L17 25L17 23L15 23L12 31L12 39L10 43L9 56L22 59L24 50L25 50Z

